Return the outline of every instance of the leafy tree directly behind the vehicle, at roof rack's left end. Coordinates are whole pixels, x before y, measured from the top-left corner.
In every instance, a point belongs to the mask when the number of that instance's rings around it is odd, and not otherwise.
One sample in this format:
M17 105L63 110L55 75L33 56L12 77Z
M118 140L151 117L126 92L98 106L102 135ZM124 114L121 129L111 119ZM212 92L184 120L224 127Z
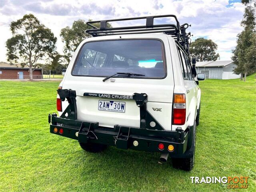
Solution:
M92 21L89 19L89 21ZM94 26L100 28L100 23L94 24ZM107 23L107 27L112 27L111 24ZM69 26L63 28L60 32L62 42L64 45L64 54L68 62L72 58L76 48L84 39L91 37L85 31L91 29L92 27L88 26L86 22L82 19L74 21L72 27Z

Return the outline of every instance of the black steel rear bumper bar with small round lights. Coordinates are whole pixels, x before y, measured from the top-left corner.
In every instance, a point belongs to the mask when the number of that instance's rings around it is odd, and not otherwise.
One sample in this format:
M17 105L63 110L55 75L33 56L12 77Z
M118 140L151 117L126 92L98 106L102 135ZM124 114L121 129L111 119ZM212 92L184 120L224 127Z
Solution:
M98 126L98 122L70 120L57 117L56 114L49 114L49 122L52 122L51 133L83 143L100 143L121 149L130 148L170 154L184 154L188 144L188 132L182 129L176 129L176 131L149 130L119 125L107 128ZM54 128L58 131L54 132ZM63 130L62 134L59 132L60 128ZM138 141L138 146L133 145L134 140ZM164 150L158 149L160 143L164 144ZM168 145L173 145L174 151L168 151Z

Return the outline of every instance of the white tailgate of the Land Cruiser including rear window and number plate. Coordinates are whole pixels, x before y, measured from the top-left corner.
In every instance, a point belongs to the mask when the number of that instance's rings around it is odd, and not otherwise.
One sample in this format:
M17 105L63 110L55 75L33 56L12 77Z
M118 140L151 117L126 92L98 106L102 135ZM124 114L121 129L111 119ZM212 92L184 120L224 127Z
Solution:
M113 38L113 37L110 37ZM174 80L170 48L161 39L86 40L68 66L62 88L76 90L78 120L100 126L140 126L140 109L134 93L148 95L147 110L166 130L171 130ZM130 72L144 76L115 76ZM157 109L157 110L156 110Z

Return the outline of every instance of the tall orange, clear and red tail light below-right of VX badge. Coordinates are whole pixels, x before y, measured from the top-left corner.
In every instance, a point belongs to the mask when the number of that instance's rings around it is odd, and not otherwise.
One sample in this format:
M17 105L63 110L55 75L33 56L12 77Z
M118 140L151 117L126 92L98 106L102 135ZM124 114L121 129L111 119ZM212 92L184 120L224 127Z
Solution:
M186 121L186 96L174 94L172 124L184 125Z

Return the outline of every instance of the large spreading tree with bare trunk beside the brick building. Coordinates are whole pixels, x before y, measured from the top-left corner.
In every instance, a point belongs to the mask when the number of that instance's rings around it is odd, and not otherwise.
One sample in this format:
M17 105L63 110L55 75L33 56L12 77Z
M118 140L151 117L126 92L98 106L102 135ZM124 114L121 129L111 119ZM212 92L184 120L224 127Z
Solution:
M33 80L33 71L38 62L52 57L56 50L57 38L33 15L12 21L10 24L12 38L6 41L7 60L29 67L29 79Z

